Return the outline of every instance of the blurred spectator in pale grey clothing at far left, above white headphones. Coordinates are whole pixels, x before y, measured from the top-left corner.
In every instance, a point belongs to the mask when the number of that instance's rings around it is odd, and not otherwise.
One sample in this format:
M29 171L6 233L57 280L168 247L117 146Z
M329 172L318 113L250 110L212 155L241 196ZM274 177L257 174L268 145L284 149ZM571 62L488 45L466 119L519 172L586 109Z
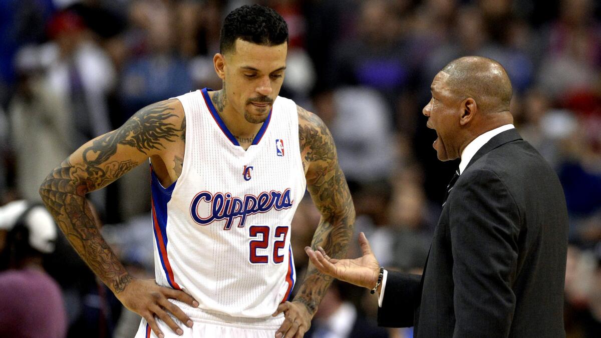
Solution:
M16 60L19 80L8 106L16 189L30 201L40 200L37 186L74 147L64 132L70 126L69 105L45 76L44 63L52 57L49 48L20 49Z

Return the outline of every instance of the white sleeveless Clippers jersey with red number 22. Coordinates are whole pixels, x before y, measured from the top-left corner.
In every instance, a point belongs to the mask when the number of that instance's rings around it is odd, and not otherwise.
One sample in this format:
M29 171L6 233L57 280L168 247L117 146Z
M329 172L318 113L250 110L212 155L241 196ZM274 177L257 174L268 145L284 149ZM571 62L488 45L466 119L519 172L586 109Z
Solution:
M207 88L177 99L186 115L182 174L164 188L152 173L156 281L207 312L270 316L296 280L290 223L306 186L296 104L278 96L244 150Z

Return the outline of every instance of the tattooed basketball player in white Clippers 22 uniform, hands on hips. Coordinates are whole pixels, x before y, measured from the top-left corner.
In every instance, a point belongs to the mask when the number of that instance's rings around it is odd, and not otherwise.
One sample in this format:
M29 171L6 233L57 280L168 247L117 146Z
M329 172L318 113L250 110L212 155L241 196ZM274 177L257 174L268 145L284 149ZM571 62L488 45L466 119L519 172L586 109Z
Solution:
M322 214L312 246L342 257L355 210L328 128L278 96L287 41L275 11L237 8L213 58L221 90L142 108L42 184L73 247L143 317L136 337L302 337L310 327L331 280L310 266L287 301L297 278L294 211L307 186ZM138 280L100 235L85 194L148 158L156 278Z

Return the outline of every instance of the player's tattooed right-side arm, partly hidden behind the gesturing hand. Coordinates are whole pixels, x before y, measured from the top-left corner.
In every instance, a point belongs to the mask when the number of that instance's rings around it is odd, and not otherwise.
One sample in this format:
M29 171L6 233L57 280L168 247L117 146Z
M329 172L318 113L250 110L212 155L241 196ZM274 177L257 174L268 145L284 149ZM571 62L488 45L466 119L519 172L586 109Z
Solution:
M311 247L315 250L317 247L323 247L331 257L343 258L346 256L355 223L355 207L350 197L349 186L338 165L334 140L325 123L317 115L299 106L297 112L307 189L322 215L313 235ZM294 334L302 337L310 327L310 320L331 282L332 277L317 271L310 264L294 301L278 307L278 312L284 312L286 315L286 320L278 333L282 333L282 336L285 334L285 337L292 337ZM308 321L294 303L302 304L302 307L307 310Z

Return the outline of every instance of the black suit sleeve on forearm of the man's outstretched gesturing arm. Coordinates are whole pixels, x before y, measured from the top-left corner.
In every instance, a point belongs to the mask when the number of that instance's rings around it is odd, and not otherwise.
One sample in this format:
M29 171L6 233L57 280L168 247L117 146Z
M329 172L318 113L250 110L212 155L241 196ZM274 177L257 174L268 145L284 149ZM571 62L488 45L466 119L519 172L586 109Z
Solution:
M388 271L382 307L377 310L381 327L412 327L413 313L421 299L421 275Z

